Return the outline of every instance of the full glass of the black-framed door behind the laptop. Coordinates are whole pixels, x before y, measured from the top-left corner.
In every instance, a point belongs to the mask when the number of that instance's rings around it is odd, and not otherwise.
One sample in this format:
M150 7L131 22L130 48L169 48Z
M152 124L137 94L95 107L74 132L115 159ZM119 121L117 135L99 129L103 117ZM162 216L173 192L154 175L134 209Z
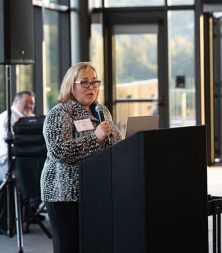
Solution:
M113 38L116 123L122 133L128 116L158 113L157 35L156 31Z

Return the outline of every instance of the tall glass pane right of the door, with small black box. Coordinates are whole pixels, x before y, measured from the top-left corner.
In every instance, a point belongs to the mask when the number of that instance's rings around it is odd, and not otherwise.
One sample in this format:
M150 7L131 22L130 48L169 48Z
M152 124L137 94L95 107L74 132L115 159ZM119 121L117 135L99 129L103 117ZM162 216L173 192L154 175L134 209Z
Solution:
M195 125L194 12L170 11L168 27L170 125Z

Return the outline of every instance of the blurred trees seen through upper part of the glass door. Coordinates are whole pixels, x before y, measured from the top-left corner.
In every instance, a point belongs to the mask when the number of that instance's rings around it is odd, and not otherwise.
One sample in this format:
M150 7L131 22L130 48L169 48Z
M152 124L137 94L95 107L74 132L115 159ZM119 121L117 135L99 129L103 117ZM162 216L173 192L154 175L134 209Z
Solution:
M155 35L118 35L115 42L117 83L157 77Z

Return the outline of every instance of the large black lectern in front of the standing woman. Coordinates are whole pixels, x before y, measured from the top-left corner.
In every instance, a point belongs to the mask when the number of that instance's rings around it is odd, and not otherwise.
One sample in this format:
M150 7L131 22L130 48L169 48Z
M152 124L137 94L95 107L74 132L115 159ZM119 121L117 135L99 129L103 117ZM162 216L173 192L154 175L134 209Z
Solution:
M205 132L144 131L84 160L81 253L207 253Z

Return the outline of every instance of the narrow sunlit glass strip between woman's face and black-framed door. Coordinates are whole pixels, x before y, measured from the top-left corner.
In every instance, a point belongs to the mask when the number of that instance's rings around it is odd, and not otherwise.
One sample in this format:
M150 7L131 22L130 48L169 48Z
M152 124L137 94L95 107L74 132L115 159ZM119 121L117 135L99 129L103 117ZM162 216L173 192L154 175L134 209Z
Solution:
M91 40L90 40L90 61L96 68L98 79L102 81L100 85L100 92L98 100L100 103L104 103L104 75L103 75L103 37L102 37L102 25L91 25Z

